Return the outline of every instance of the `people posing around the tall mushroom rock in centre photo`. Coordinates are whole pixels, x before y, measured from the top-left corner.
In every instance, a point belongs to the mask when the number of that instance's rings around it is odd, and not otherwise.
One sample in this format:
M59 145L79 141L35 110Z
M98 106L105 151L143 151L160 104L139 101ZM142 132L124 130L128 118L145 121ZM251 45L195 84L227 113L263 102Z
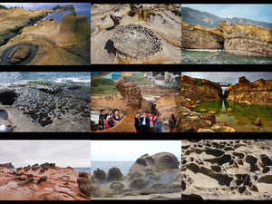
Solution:
M119 112L118 109L114 111L110 110L105 113L104 110L101 110L99 116L99 129L105 130L114 127L114 125L118 124L123 118L123 114ZM153 112L137 112L136 117L134 118L134 126L137 132L162 132L162 123L161 114L154 115ZM174 114L170 115L170 120L168 122L170 126L170 132L173 131L176 120Z

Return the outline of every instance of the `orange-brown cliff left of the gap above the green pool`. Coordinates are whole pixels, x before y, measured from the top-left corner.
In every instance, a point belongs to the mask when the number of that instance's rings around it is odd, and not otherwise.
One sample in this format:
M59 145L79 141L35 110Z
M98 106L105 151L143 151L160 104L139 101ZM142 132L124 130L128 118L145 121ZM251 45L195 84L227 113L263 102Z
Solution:
M186 75L181 75L181 95L193 101L212 102L222 101L222 89L219 83L209 80L196 80Z

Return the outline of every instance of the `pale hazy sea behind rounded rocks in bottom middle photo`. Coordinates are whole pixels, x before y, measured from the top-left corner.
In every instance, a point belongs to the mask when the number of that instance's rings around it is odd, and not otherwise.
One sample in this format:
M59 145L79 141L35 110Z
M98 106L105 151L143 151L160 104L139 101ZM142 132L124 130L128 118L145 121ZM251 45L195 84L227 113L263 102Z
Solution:
M178 159L179 161L181 159ZM135 161L91 161L91 175L93 175L93 170L104 170L106 173L112 169L112 167L118 168L121 170L122 175L127 175L131 166ZM181 162L179 165L181 168Z

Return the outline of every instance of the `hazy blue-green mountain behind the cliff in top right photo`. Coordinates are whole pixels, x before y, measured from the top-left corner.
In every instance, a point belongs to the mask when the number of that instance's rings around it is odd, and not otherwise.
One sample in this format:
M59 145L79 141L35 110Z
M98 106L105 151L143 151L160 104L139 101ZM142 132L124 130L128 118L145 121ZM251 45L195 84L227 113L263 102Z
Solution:
M207 27L216 27L218 24L220 24L222 21L226 20L228 24L234 23L234 24L256 24L261 26L264 29L272 29L272 24L260 22L260 21L254 21L247 18L220 18L217 15L212 15L208 12L200 12L195 9L191 9L189 7L182 7L182 21L186 22L188 24L201 24Z

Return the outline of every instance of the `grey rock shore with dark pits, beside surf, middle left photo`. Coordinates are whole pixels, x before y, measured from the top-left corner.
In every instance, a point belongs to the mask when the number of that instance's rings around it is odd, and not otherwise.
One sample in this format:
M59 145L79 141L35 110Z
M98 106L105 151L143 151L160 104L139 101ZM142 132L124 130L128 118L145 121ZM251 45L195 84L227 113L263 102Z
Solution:
M0 89L0 123L6 131L91 131L90 89L57 83L10 84Z

